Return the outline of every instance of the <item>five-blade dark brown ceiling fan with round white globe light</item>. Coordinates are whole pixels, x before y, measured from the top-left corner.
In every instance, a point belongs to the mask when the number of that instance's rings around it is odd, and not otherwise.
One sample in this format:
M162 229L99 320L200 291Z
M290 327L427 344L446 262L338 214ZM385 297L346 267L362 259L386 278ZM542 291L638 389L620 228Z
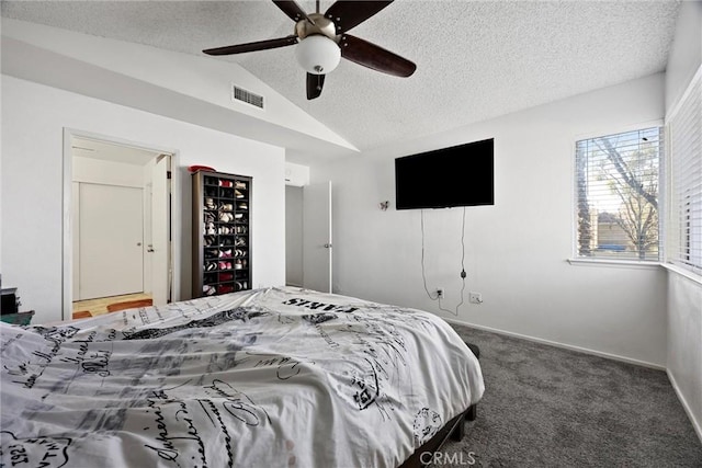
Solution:
M233 55L296 44L295 56L307 71L308 100L321 94L325 76L339 65L341 57L395 77L409 77L417 69L414 62L347 33L392 2L393 0L339 0L321 14L317 0L316 13L306 14L294 0L273 0L283 13L295 21L294 34L276 39L208 48L203 53Z

